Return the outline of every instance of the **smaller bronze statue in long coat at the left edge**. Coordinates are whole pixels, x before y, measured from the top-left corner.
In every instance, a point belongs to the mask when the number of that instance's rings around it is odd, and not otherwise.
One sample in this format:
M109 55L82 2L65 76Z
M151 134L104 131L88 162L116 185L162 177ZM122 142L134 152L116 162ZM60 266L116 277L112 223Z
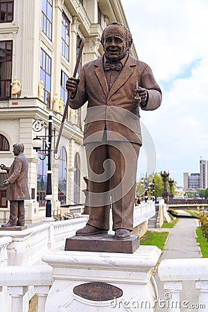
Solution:
M8 172L8 179L3 181L7 187L6 199L10 200L10 219L2 227L24 226L24 200L30 199L28 189L28 159L24 155L24 145L14 144L15 160L10 167L1 164L1 169Z

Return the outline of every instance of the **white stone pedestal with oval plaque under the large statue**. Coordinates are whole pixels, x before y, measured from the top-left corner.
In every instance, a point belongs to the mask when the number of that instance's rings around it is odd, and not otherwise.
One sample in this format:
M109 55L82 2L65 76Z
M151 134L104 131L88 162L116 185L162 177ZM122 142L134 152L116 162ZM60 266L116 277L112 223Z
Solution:
M53 250L45 312L155 311L153 270L161 250L140 246L134 254Z

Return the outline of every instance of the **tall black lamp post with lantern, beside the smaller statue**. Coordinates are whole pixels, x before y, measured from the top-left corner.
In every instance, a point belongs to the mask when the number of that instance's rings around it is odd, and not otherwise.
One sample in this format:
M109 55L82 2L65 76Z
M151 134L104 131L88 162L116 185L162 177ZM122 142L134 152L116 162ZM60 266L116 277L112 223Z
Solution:
M43 128L45 128L45 135L40 136L44 138L44 149L42 148L42 139L40 137L37 137L33 139L33 149L37 151L42 151L44 152L44 157L40 159L44 160L46 158L46 154L48 157L48 166L47 166L47 182L46 182L46 219L44 220L53 220L51 217L51 200L52 200L52 180L51 180L51 143L52 143L52 116L53 113L49 112L49 135L46 135L46 124L44 121L36 120L33 123L33 130L35 132L40 132ZM46 138L48 138L48 141L46 141Z

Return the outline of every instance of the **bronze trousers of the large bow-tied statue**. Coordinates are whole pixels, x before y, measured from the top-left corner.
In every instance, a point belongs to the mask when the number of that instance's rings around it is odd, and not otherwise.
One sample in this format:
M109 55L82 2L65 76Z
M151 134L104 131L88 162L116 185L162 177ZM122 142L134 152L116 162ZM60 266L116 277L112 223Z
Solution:
M103 141L85 145L89 176L89 220L109 229L112 207L113 229L133 229L138 144Z

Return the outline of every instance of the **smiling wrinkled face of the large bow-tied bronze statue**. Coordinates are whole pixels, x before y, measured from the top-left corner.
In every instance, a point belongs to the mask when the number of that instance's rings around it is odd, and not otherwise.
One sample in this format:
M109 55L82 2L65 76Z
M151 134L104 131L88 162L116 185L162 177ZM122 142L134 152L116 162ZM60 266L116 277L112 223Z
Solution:
M110 62L121 60L128 51L125 40L125 29L119 25L110 25L105 28L103 49Z

